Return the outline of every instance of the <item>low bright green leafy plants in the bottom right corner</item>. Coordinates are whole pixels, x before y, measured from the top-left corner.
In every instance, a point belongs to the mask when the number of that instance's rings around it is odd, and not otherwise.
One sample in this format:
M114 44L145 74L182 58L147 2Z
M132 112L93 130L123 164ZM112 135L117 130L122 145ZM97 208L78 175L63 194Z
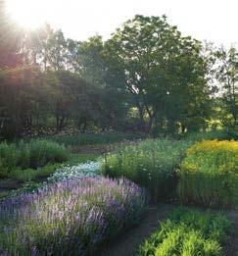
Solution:
M177 208L139 248L138 256L221 256L232 224L223 214Z

